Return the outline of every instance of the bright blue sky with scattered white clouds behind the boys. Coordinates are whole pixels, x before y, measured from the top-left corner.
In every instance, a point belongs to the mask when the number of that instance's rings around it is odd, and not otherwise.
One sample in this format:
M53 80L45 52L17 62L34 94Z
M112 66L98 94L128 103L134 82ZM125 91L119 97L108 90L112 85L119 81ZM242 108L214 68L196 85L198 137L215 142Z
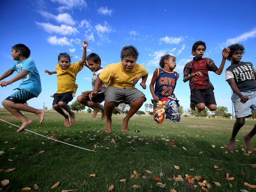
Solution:
M1 2L1 7L0 73L14 62L11 46L26 44L39 70L43 88L38 98L28 102L36 108L42 108L44 102L51 108L50 95L57 90L56 75L49 76L44 70L55 70L60 52L69 52L72 62L79 61L83 39L89 42L87 54L100 55L103 67L121 60L122 46L132 44L137 47L137 63L148 69L147 85L158 68L161 55L174 55L175 70L180 72L175 94L185 109L189 108L190 90L188 82L182 81L183 68L193 59L191 47L195 41L206 42L204 57L213 59L218 67L222 48L235 42L245 46L242 61L256 63L254 0L162 0L159 3L152 0L9 0ZM229 65L227 61L224 70ZM215 87L217 105L228 107L231 113L231 89L225 81L224 71L221 76L213 72L209 75ZM0 87L0 100L12 94L19 83ZM79 85L77 96L84 90L91 90L91 71L84 68L78 73L76 83ZM136 87L143 90L139 85ZM149 86L143 92L146 103L150 103Z

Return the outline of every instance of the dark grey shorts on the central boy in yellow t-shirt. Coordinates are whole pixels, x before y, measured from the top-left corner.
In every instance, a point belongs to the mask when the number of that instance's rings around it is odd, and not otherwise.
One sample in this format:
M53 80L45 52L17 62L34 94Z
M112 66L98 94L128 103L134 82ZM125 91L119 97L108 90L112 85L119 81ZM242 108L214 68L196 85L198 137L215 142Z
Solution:
M118 106L120 103L131 105L132 102L134 102L136 99L140 97L144 97L145 101L147 100L143 92L141 92L136 88L120 89L120 88L111 86L111 87L107 87L105 91L104 100L105 100L105 103L116 102L117 103L116 106Z

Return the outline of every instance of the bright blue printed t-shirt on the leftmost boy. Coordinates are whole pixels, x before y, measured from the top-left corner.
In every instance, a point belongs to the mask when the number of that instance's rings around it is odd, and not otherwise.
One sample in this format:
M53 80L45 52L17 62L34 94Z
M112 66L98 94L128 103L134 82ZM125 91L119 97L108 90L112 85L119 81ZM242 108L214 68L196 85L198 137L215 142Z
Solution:
M39 72L35 66L35 61L32 57L29 57L24 61L15 61L11 66L11 70L17 71L18 73L24 69L28 70L29 73L22 78L22 83L20 83L18 89L26 89L38 97L42 91L41 80Z

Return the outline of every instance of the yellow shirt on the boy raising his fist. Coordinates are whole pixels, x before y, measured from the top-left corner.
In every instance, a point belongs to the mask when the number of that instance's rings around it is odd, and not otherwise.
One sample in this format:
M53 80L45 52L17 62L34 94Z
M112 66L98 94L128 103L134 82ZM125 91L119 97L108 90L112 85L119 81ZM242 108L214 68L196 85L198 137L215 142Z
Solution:
M57 93L65 93L72 91L76 93L78 85L76 85L76 75L82 70L83 65L79 65L79 61L72 63L66 70L61 69L59 64L56 65L57 72Z

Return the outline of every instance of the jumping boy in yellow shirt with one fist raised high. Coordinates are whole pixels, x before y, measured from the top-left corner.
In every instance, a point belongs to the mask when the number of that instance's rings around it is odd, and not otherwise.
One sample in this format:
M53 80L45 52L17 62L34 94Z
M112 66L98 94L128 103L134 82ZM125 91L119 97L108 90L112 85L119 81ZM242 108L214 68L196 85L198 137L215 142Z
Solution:
M78 85L76 85L76 75L83 68L83 63L86 61L86 47L87 41L83 41L83 56L82 59L76 63L70 65L71 59L68 53L60 53L58 55L58 64L56 65L56 71L45 70L49 75L57 73L57 92L54 94L54 100L52 107L62 116L64 116L64 126L69 127L76 122L76 116L71 111L68 103L72 101L73 94L76 93ZM69 116L63 111L67 111Z

